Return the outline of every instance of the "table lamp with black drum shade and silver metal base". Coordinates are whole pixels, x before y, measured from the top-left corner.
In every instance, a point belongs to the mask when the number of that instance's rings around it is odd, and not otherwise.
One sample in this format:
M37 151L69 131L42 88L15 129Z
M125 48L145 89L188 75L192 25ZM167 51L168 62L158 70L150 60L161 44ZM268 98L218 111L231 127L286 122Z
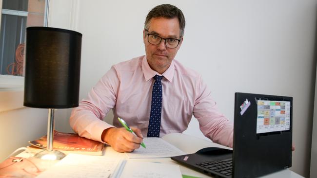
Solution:
M48 108L47 148L37 158L65 156L53 150L54 111L78 107L81 37L58 28L26 28L24 106Z

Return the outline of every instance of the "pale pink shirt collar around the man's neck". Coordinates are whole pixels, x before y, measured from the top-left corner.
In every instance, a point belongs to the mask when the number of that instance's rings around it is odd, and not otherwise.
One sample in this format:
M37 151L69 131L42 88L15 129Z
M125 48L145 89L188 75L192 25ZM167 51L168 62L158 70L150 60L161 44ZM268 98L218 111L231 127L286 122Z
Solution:
M159 75L159 76L163 75L164 78L166 78L168 81L172 82L173 76L174 76L174 71L175 71L174 60L172 60L170 67L166 71L164 71L163 74L159 74L157 71L154 71L151 69L149 63L147 62L146 55L145 55L143 57L143 60L142 60L142 71L143 71L144 78L146 81L150 80L155 75Z

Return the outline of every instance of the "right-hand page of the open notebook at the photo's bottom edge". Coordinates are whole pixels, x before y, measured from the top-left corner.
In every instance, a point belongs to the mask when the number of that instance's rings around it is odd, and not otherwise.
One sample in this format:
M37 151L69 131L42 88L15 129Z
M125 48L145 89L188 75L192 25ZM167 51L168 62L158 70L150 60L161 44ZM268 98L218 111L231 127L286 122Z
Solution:
M120 178L181 178L178 165L128 160Z

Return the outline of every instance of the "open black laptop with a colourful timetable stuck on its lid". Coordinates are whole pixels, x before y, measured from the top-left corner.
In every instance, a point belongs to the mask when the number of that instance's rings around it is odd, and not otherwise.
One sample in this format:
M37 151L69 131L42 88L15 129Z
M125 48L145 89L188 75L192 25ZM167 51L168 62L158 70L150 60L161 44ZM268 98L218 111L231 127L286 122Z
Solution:
M293 98L235 93L233 151L208 147L171 157L216 178L255 178L292 166Z

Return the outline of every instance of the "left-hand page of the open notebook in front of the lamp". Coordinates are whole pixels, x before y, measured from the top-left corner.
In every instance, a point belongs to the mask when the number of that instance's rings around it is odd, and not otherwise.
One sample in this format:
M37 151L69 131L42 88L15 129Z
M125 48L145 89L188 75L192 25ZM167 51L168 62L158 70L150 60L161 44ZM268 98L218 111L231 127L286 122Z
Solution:
M110 178L120 161L69 154L37 178Z

